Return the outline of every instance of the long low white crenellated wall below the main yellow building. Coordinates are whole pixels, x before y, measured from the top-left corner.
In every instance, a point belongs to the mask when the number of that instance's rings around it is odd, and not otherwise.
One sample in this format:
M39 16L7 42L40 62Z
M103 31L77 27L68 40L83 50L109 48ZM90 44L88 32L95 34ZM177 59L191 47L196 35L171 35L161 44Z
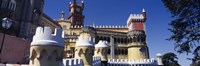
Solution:
M157 65L157 61L154 59L141 59L141 60L131 60L131 59L108 59L108 63L111 65Z

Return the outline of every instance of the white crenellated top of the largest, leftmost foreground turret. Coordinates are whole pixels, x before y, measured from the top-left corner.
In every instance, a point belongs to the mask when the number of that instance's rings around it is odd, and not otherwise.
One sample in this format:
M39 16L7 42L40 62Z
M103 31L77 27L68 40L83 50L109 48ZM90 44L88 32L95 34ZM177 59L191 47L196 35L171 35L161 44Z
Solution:
M55 45L64 47L64 32L62 29L56 28L54 34L51 33L52 30L50 27L37 27L31 45Z

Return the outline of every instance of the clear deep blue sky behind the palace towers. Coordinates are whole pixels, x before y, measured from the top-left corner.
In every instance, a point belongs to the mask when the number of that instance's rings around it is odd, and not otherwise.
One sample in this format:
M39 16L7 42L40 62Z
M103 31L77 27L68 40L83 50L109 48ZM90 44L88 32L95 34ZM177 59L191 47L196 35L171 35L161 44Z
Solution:
M53 19L59 19L61 11L65 11L65 16L68 16L69 1L71 0L45 0L44 13ZM170 27L168 23L172 20L171 14L160 0L85 0L85 24L91 25L94 22L96 25L126 25L129 15L141 13L143 8L147 12L150 57L156 58L157 53L176 53L173 42L166 40L171 35L167 30ZM186 58L191 55L177 55L182 66L189 66L191 61Z

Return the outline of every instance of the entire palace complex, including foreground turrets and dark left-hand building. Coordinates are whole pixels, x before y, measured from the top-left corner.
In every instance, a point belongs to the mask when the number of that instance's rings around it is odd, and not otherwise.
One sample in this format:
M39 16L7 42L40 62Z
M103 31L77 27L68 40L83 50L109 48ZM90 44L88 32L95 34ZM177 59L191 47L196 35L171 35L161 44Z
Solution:
M0 66L15 65L13 63L25 63L21 66L163 66L161 54L157 54L157 60L149 58L145 9L140 14L130 14L124 22L126 26L98 26L84 25L83 0L80 3L72 0L69 16L66 18L62 11L61 18L56 20L43 13L44 0L0 2L0 18L8 16L14 22L11 29L18 27L13 31L8 29L8 34L20 37L6 37L13 42L5 41L8 47L4 46L6 49L0 55ZM22 5L15 6L20 3ZM26 6L30 9L23 9L25 4L30 5ZM18 14L21 11L26 13ZM20 31L15 34L17 30ZM28 52L25 49L29 47Z

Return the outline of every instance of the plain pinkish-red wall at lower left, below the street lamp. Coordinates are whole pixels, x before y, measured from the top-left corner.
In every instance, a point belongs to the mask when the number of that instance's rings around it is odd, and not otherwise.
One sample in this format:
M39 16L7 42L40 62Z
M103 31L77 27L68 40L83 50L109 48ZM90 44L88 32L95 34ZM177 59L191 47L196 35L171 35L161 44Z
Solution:
M3 34L0 33L0 43L2 43ZM29 57L30 41L17 38L15 36L6 35L0 54L0 63L27 63ZM0 47L2 44L0 44Z

